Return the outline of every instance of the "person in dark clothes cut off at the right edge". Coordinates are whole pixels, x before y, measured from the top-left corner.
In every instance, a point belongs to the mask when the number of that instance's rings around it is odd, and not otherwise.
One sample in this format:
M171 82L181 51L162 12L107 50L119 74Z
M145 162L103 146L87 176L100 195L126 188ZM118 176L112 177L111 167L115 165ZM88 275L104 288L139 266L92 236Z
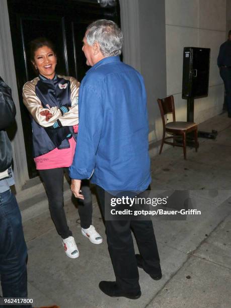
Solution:
M231 118L231 30L228 31L228 39L220 45L217 65L220 69L220 76L224 82L225 103L228 110L228 117Z

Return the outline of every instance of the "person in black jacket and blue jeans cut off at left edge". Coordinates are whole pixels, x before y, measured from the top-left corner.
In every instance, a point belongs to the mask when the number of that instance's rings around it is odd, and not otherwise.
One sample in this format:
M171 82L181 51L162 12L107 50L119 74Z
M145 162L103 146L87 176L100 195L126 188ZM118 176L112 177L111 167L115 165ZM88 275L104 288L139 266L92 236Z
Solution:
M15 119L11 89L0 77L0 278L3 297L27 297L27 247L21 213L10 187L15 184L11 169L12 146L5 129ZM3 307L0 304L0 307ZM11 305L11 307L32 307ZM58 308L50 306L50 308ZM42 307L41 307L42 308Z

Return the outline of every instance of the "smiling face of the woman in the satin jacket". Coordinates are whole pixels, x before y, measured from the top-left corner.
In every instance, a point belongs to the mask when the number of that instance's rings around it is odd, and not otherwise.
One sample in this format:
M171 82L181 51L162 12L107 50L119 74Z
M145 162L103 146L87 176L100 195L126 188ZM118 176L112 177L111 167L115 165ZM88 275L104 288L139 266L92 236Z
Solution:
M54 77L57 58L53 50L48 46L42 46L35 51L32 63L41 75L48 79Z

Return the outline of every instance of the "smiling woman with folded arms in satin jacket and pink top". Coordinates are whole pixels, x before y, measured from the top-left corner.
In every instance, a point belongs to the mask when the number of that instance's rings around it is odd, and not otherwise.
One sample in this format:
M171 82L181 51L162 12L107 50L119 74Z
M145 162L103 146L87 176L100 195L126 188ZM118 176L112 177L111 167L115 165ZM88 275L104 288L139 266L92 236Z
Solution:
M36 169L44 182L51 218L69 258L78 258L79 250L67 225L63 209L63 174L71 165L78 131L78 94L80 83L57 75L57 57L46 38L31 42L31 62L38 77L23 87L23 101L32 120ZM92 197L89 181L82 186L85 199L79 201L82 234L94 244L102 237L92 223ZM82 203L81 203L82 202Z

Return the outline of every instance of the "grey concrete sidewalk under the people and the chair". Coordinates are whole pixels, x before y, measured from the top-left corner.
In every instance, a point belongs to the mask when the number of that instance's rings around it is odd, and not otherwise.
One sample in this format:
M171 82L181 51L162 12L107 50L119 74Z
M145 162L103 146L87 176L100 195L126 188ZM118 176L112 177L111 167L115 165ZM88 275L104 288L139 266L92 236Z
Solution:
M103 236L101 245L91 244L81 235L78 211L65 183L68 225L80 250L78 259L69 259L50 219L40 182L25 186L18 200L28 246L28 291L35 306L230 307L231 119L226 114L216 116L201 129L219 133L216 140L200 139L197 153L187 148L187 161L178 147L151 160L152 189L190 190L193 208L201 215L153 220L163 278L154 281L139 269L142 296L137 300L111 298L98 288L101 280L114 280L114 273L96 197L93 224Z

